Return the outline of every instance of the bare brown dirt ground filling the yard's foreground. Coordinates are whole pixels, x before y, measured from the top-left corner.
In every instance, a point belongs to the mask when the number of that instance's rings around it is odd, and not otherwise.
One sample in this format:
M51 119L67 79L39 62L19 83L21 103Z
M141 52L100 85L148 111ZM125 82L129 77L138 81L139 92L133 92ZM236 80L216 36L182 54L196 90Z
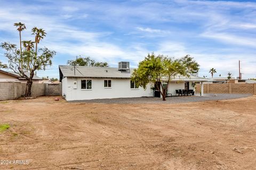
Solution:
M0 169L255 169L256 96L182 104L0 102ZM237 151L233 149L236 148Z

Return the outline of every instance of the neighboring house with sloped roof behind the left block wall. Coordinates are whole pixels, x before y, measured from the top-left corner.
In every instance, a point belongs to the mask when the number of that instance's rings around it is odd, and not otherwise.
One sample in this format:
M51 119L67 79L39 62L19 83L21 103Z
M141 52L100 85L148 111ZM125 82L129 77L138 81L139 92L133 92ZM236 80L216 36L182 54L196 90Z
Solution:
M28 72L26 72L25 74L29 76ZM37 75L34 75L33 83L39 83L39 80L42 80L42 78L39 78ZM21 78L20 75L17 73L0 70L0 82L27 83L27 80L25 78Z

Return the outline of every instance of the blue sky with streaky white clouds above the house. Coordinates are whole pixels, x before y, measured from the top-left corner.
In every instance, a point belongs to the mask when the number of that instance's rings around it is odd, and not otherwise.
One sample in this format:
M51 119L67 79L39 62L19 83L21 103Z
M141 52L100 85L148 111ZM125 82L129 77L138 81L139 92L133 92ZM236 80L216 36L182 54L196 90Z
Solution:
M15 22L26 24L22 40L33 40L31 29L47 35L39 47L55 50L51 67L39 77L59 77L59 65L76 56L90 56L117 67L131 67L148 53L180 58L187 54L200 65L199 76L256 77L256 1L5 1L0 0L0 43L19 44ZM0 61L6 63L4 50Z

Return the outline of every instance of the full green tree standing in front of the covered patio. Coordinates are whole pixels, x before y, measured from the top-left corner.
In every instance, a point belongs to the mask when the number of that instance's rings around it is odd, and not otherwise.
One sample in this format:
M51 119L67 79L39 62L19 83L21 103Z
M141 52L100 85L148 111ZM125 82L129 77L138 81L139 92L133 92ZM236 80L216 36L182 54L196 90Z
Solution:
M163 100L166 97L166 91L170 80L178 75L189 77L191 73L199 70L199 64L189 55L180 59L169 58L167 56L154 53L148 54L143 61L139 63L138 69L134 69L132 73L132 81L146 89L148 83L160 82L161 88L156 86L160 91ZM162 81L167 82L163 88Z

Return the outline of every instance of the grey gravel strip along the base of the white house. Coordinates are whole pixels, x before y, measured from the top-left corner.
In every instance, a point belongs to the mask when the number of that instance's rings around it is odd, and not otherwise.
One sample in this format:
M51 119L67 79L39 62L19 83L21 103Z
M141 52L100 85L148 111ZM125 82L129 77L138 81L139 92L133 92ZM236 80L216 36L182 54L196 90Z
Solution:
M173 96L163 101L158 97L135 97L114 99L75 100L69 102L79 103L105 103L105 104L158 104L158 103L188 103L197 101L226 100L252 96L250 94L205 94L204 96Z

